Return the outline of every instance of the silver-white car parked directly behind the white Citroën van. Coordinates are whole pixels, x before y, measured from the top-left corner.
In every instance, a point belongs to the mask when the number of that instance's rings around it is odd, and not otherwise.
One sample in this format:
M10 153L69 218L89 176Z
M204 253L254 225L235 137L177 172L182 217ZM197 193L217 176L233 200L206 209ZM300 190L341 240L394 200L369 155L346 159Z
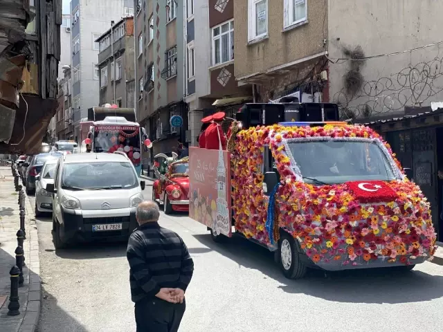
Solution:
M54 183L55 166L57 166L57 159L50 158L44 163L42 172L35 176L35 216L53 211L52 194L46 192L46 185Z

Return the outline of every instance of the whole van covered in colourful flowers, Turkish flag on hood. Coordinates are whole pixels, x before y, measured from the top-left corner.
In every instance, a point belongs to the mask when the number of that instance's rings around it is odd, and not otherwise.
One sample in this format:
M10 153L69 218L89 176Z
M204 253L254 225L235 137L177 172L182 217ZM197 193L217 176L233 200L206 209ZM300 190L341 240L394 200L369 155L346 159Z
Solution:
M372 129L282 122L240 130L231 147L235 232L275 251L286 277L308 267L410 270L433 256L429 203ZM208 154L201 150L190 151L191 193L199 185L192 158ZM214 228L215 241L226 239Z

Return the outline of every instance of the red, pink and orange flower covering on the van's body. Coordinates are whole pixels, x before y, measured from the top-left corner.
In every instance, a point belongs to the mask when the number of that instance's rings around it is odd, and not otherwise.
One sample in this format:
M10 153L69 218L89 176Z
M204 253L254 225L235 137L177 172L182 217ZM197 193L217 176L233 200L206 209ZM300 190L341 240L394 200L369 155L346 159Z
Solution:
M287 142L319 138L376 142L397 180L305 183ZM279 185L267 188L270 198L263 192L264 147L271 150L280 174ZM428 201L404 176L390 146L368 127L255 127L237 133L231 153L235 228L247 238L275 248L283 228L320 266L363 266L372 261L409 265L435 252ZM369 159L367 165L374 166ZM377 194L368 191L368 185Z

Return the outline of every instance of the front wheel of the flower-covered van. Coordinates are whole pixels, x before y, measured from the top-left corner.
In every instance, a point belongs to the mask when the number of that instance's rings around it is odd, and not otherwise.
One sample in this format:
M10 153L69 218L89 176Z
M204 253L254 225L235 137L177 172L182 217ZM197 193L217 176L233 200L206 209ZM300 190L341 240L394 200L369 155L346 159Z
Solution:
M284 277L288 279L300 279L306 274L306 266L300 260L300 246L298 242L287 232L282 233L279 243L280 268Z

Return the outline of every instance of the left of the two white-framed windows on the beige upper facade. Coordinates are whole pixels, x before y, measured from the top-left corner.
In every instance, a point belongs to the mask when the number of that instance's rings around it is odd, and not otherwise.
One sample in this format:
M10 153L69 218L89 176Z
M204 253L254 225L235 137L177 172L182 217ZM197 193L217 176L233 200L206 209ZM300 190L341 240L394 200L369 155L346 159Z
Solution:
M268 34L268 0L248 0L248 40Z

